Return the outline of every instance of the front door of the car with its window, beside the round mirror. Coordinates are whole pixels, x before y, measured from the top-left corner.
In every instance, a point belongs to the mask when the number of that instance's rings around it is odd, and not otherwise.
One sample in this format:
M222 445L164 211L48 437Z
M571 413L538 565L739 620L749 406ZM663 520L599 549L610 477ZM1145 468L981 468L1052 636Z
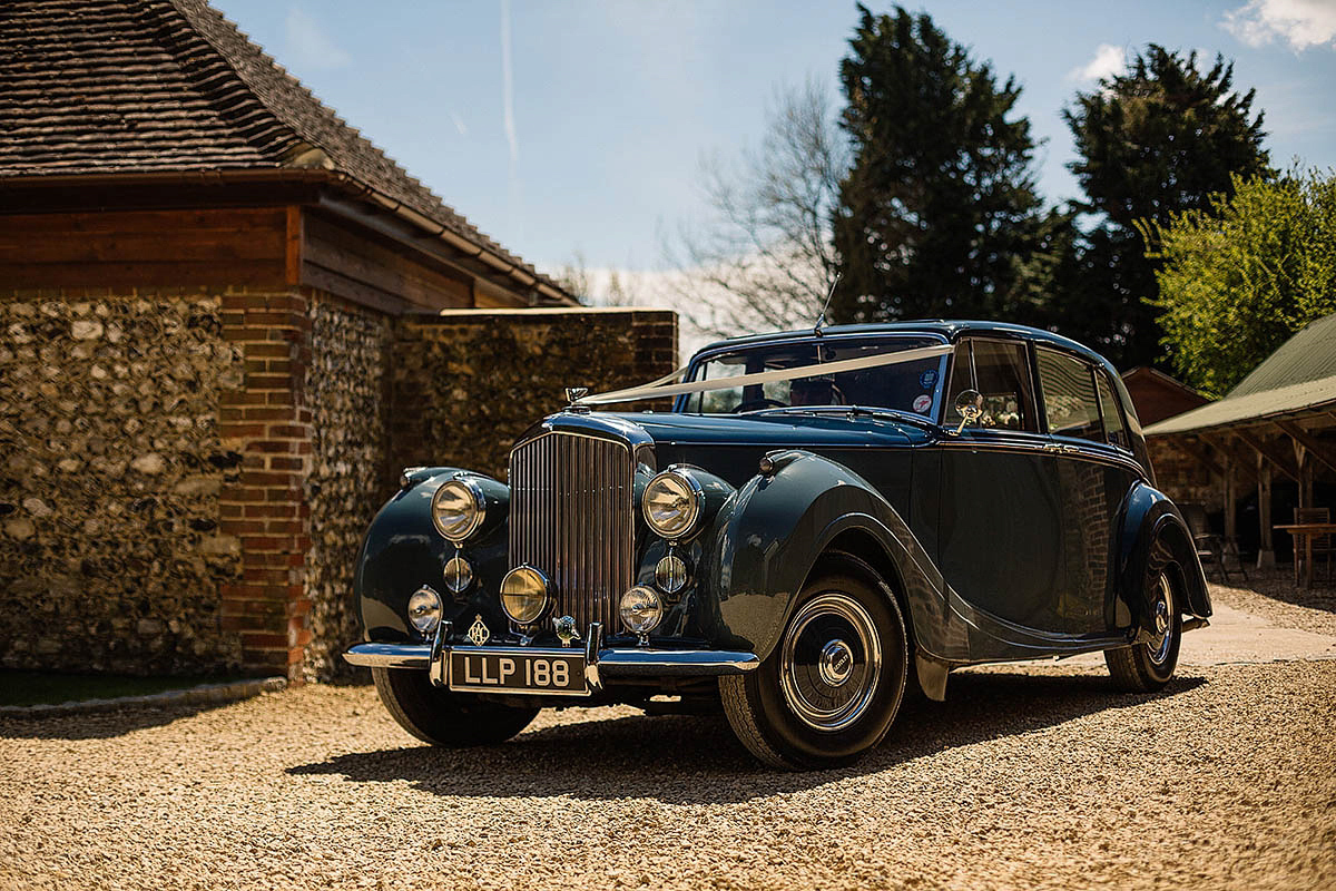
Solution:
M961 341L943 423L955 395L978 390L983 415L941 443L938 566L975 609L1014 625L1075 633L1061 600L1069 553L1059 460L1043 433L1023 341Z

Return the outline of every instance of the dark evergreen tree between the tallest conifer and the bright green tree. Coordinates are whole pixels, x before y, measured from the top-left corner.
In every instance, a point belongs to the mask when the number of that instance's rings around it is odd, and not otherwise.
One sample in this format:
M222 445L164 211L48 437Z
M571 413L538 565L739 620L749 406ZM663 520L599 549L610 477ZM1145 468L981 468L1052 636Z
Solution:
M1157 246L1146 234L1185 211L1212 212L1216 196L1233 192L1234 178L1271 174L1253 94L1233 90L1233 65L1222 56L1204 71L1196 52L1150 44L1126 73L1078 94L1063 111L1078 154L1069 167L1085 191L1077 207L1102 215L1074 243L1066 278L1057 282L1054 322L1063 334L1121 367L1162 355L1148 258Z

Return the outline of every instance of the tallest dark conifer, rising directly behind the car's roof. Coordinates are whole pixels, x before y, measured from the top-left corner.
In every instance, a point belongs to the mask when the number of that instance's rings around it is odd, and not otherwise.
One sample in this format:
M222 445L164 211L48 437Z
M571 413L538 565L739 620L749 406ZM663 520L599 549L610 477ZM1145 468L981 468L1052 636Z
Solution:
M1027 321L1018 291L1041 220L1019 85L999 84L927 13L859 12L840 64L854 163L831 315Z

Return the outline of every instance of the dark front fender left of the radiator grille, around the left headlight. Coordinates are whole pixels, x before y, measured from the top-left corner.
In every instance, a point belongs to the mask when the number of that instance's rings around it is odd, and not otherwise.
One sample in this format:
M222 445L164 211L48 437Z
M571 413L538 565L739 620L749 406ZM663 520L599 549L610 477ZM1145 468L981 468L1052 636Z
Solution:
M442 570L456 548L432 525L432 496L448 480L466 473L485 484L489 516L473 540L460 553L473 565L474 580L462 596L445 586ZM422 585L430 586L444 604L442 618L468 625L481 613L493 627L505 627L496 592L506 570L506 512L509 489L480 473L457 468L424 468L405 476L405 486L394 493L371 520L362 538L353 593L362 617L363 640L398 644L421 643L422 636L407 622L407 601Z

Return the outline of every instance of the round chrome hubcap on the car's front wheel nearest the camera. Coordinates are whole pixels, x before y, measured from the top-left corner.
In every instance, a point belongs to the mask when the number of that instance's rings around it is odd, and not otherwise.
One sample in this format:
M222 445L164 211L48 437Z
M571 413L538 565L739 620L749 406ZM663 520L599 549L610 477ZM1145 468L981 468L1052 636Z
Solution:
M882 641L868 612L840 592L808 601L780 648L788 708L808 727L835 732L863 716L882 676Z

